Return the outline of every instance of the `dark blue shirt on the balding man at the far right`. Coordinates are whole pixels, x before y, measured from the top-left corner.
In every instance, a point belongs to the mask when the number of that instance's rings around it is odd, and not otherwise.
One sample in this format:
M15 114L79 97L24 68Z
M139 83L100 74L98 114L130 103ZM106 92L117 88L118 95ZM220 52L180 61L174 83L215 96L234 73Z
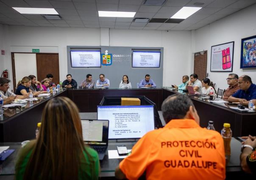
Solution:
M251 84L247 91L239 89L232 97L246 99L247 101L256 99L256 85Z

